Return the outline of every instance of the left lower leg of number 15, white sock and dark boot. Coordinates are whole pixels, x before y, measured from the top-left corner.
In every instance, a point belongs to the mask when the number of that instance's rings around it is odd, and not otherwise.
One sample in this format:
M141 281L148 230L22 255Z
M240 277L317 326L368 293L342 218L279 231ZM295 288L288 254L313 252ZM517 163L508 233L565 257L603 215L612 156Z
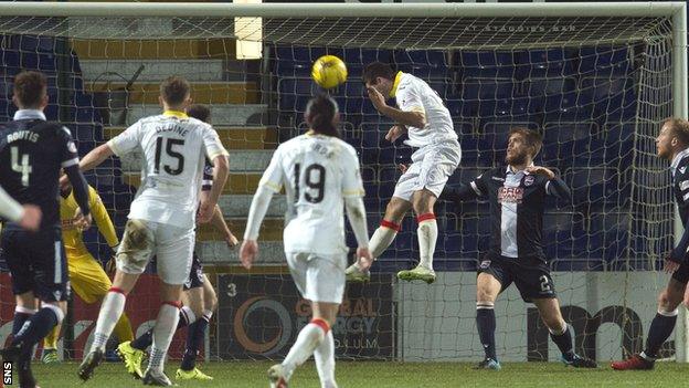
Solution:
M98 319L96 321L96 329L94 334L94 342L91 345L91 352L84 357L84 360L78 367L78 377L86 381L92 376L96 367L100 365L105 355L105 345L113 334L113 329L119 317L125 311L125 303L127 302L127 294L134 289L139 274L125 273L120 270L115 272L115 280L113 286L108 291L107 295L103 298L100 304L100 312L98 313Z

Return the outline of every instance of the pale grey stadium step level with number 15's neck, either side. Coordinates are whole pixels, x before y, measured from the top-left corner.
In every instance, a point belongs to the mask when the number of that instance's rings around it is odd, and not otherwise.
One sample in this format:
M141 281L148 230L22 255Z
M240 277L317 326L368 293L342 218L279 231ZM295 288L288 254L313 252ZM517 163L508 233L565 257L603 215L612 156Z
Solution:
M267 122L268 106L266 104L246 105L213 105L211 106L211 120L213 126L251 126L262 125ZM160 114L159 105L135 105L129 108L127 123L129 125L147 116Z

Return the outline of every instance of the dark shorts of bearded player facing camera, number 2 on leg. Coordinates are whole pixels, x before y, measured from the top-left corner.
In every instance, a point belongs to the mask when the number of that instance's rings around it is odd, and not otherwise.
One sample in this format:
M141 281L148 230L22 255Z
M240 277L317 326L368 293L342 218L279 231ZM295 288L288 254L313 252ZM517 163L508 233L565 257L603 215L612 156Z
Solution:
M500 282L500 292L515 283L524 302L556 297L550 268L540 259L487 255L478 266L478 273L484 272Z

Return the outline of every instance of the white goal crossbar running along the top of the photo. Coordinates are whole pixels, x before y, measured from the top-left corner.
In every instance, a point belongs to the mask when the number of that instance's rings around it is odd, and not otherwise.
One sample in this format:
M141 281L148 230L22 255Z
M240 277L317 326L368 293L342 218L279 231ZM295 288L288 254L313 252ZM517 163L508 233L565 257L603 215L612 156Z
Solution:
M672 17L686 3L140 3L140 2L0 2L1 15L34 17L256 17L256 18L520 18L520 17Z

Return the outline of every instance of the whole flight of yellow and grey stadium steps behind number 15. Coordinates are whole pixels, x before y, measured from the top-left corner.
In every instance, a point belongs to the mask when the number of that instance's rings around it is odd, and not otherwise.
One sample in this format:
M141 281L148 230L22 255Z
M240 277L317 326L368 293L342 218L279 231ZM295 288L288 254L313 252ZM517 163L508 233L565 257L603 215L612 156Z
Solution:
M268 107L259 104L256 70L247 73L255 63L236 60L235 42L231 39L71 42L88 91L123 90L123 78L131 77L144 65L130 87L127 125L160 114L158 95L163 77L179 74L191 82L193 101L210 105L213 127L230 151L231 175L219 205L229 227L241 238L261 175L278 145L277 128L265 126L269 123ZM103 134L109 139L124 129L124 126L105 127ZM140 158L131 155L121 159L124 183L140 185ZM286 208L285 197L275 196L262 226L261 264L284 265L282 239ZM239 261L237 250L230 250L212 227L201 226L198 240L197 250L203 262L222 265Z

